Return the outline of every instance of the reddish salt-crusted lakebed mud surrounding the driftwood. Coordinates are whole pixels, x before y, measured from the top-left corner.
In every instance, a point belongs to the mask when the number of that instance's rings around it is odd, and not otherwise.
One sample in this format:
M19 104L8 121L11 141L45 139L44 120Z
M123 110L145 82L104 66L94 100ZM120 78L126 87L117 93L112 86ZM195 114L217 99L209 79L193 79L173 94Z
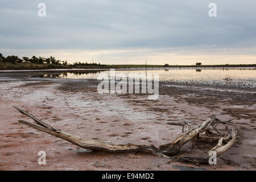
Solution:
M158 100L143 94L100 94L94 80L2 79L0 81L0 170L255 170L255 90L199 88L160 83ZM217 90L217 91L216 91ZM235 118L236 143L217 165L168 163L142 153L90 152L18 122L31 121L14 109L27 110L44 122L85 139L114 143L170 143L188 119L196 127L211 114ZM232 127L232 124L229 125ZM214 143L187 143L181 152L206 154ZM46 165L38 152L46 152Z

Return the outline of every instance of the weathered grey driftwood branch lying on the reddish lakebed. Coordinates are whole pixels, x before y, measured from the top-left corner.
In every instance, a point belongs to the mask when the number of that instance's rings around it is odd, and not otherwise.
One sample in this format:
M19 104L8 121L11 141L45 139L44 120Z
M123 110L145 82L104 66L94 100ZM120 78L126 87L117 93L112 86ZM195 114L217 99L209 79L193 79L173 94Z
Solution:
M216 117L215 115L213 115L212 118L207 119L207 121L202 123L196 129L191 129L188 121L184 120L184 123L182 124L182 126L187 126L186 132L179 135L173 142L168 144L163 144L159 148L156 148L155 146L152 146L152 145L146 146L146 145L139 145L134 143L114 144L112 142L105 142L102 140L82 139L81 137L65 133L60 129L56 129L55 127L52 127L47 123L40 121L40 119L34 117L34 115L28 113L27 111L19 109L18 107L15 107L15 109L17 109L20 113L27 115L28 117L32 118L35 121L35 124L34 124L27 121L19 120L20 123L30 126L36 130L43 131L44 133L54 135L55 137L64 139L81 148L85 148L92 151L107 151L107 152L147 152L147 153L158 155L164 158L169 158L173 160L179 159L181 161L192 162L192 163L207 163L208 158L207 156L203 158L193 157L193 156L180 156L179 158L175 159L174 157L171 158L171 156L176 155L185 143L193 140L196 137L199 137L200 133L209 130L210 126L212 126L213 123L216 123ZM232 137L232 139L230 139L230 137ZM224 146L222 146L223 140L228 140L228 139L230 139L229 142ZM214 148L212 148L212 150L210 151L216 151L217 155L221 155L234 144L235 140L236 140L236 130L233 127L232 136L222 137L219 140L218 144Z

